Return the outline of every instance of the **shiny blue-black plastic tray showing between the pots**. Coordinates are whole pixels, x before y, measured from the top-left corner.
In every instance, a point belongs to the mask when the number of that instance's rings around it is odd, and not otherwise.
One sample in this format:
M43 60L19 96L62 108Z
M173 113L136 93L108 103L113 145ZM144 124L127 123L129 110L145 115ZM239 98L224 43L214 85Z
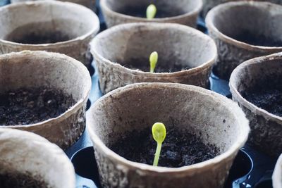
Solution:
M8 4L8 0L0 0L0 6L4 4ZM97 4L99 5L99 0ZM104 19L99 11L99 6L97 7L101 30L105 30ZM198 20L197 29L207 33L207 28L201 18ZM99 90L98 75L97 72L94 71L94 62L92 62L92 66L90 66L89 70L92 75L92 89L90 98L87 101L87 108L90 108L91 104L102 96ZM231 98L228 82L226 80L221 80L213 74L209 80L210 89L212 91ZM99 184L99 173L97 163L94 159L92 142L86 130L78 142L73 144L73 146L66 151L66 154L71 158L75 167L77 188L102 188ZM271 188L271 175L275 163L276 159L269 158L255 149L252 149L250 146L245 146L235 158L225 188Z

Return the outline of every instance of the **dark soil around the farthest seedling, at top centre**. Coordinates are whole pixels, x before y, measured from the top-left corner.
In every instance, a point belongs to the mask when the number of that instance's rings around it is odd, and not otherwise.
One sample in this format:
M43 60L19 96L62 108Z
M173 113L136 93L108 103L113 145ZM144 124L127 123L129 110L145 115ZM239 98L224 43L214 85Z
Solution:
M134 17L139 17L139 18L146 18L146 10L147 7L126 7L124 8L122 11L119 11L122 14L125 15L131 15ZM177 15L181 15L184 14L182 11L180 10L162 10L161 8L157 8L157 13L155 18L168 18L168 17L173 17L173 16L177 16Z

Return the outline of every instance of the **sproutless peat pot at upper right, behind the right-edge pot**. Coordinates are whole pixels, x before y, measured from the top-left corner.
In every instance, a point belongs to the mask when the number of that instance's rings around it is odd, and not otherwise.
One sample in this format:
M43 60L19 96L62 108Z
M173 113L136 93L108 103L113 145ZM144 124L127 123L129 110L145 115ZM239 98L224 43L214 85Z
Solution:
M250 16L251 15L251 16ZM282 6L267 2L238 1L221 4L209 11L206 24L219 51L215 73L228 80L243 61L282 51ZM277 40L281 46L257 46L240 42L238 36Z

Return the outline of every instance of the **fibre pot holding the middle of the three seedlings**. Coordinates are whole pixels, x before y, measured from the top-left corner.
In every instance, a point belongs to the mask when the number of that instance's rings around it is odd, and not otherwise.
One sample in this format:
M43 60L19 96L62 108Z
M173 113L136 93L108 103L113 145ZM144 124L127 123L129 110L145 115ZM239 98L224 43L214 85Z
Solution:
M178 63L190 69L149 73L123 66L142 59L149 70L152 51L159 53L157 66ZM176 82L207 87L217 56L216 44L210 37L174 23L129 23L112 27L94 38L91 52L103 93L135 82Z

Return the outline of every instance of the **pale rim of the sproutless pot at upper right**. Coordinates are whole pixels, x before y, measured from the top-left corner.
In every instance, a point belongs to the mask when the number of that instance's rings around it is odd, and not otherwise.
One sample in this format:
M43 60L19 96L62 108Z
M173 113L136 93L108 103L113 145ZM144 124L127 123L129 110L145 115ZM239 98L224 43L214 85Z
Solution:
M205 18L205 23L207 25L207 28L209 31L213 31L214 35L221 39L223 42L226 42L228 44L232 44L234 46L238 46L239 48L247 49L250 51L282 51L282 46L256 46L252 44L247 44L245 42L240 42L236 39L233 39L232 37L228 37L227 35L223 34L223 32L219 31L217 27L214 25L214 17L217 13L219 13L222 9L230 9L235 6L265 6L265 7L280 7L282 11L282 6L278 4L272 4L269 2L264 1L231 1L224 4L219 4L218 6L215 6L212 8L212 10L207 13L207 16Z

